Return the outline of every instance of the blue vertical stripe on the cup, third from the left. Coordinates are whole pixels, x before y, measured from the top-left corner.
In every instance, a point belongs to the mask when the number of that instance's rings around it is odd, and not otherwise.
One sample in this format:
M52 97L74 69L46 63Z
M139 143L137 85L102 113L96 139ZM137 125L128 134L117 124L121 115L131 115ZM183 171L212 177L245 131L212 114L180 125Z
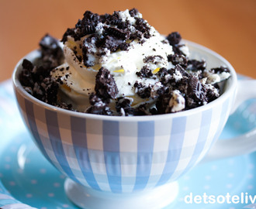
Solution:
M81 172L85 176L88 185L95 190L100 190L92 170L91 161L87 149L86 122L84 118L71 116L71 137L74 152L78 159Z

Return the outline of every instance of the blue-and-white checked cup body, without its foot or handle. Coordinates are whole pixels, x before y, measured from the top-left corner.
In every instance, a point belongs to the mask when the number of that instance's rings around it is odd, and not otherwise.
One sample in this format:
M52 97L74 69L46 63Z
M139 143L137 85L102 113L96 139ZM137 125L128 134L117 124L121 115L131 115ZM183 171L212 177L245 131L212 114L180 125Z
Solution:
M237 76L223 57L188 42L193 58L209 67L226 65L227 89L199 108L175 114L119 117L90 115L47 105L13 74L19 111L43 155L75 182L95 190L131 193L177 180L205 156L219 138L234 102ZM26 59L39 56L33 51Z

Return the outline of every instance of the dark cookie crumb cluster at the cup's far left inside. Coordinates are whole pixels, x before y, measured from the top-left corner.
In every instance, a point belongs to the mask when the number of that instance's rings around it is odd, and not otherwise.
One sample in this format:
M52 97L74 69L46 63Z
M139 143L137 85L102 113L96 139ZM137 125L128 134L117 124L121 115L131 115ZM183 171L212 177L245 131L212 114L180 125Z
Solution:
M48 34L40 41L40 52L41 57L36 65L29 60L23 60L19 81L35 98L50 105L57 105L59 85L53 77L50 77L50 71L63 63L64 54L57 39Z

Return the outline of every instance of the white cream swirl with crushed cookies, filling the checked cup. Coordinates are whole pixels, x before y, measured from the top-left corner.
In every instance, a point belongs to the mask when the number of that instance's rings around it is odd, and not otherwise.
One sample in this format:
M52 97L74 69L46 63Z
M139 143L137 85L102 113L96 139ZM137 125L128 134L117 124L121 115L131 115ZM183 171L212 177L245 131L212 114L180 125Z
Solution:
M49 36L43 40L46 46L55 43ZM64 61L50 69L47 82L58 86L53 105L64 104L74 111L101 115L185 111L218 98L217 84L230 77L226 67L207 69L204 60L189 60L189 48L179 33L162 36L137 9L112 15L86 11L61 42ZM47 92L43 83L32 83Z

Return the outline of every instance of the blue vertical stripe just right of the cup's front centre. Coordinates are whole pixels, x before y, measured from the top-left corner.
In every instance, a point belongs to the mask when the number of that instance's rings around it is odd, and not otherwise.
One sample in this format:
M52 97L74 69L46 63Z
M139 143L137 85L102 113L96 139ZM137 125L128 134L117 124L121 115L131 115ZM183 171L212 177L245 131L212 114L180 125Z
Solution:
M138 122L137 173L133 190L143 190L150 177L154 150L154 122Z

